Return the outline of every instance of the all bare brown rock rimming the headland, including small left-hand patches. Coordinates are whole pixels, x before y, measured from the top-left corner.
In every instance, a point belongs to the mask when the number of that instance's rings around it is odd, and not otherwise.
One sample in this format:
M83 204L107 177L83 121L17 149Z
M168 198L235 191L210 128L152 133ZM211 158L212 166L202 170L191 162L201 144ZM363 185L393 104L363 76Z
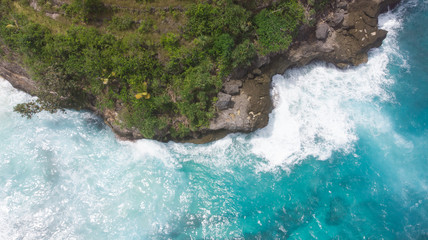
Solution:
M232 132L251 132L263 128L272 111L271 79L288 68L304 66L320 60L339 68L357 66L367 62L367 52L379 47L387 32L378 29L380 13L393 8L399 0L341 0L334 2L329 11L313 27L303 26L296 42L287 52L259 57L248 69L235 71L223 84L216 103L217 116L208 128L194 132L185 142L206 143ZM19 58L4 44L0 58L0 76L20 90L34 94L37 86ZM88 108L104 118L121 139L142 138L137 129L120 127L115 111Z

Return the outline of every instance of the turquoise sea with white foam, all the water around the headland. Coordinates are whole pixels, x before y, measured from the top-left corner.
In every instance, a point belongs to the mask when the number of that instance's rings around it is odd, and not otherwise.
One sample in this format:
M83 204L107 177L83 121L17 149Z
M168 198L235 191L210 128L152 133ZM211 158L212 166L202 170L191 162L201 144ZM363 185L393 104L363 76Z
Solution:
M275 76L265 129L205 145L21 118L0 79L0 239L427 239L427 22L403 3L367 64Z

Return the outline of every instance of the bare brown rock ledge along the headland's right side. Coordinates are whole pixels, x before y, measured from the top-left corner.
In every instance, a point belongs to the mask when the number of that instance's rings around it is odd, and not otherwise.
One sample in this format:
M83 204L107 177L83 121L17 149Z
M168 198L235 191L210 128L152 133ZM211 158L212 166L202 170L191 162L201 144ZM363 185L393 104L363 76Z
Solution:
M251 132L265 127L272 110L272 76L283 74L290 67L304 66L314 60L333 63L339 68L367 62L367 52L379 47L387 34L377 27L379 14L398 3L399 0L336 1L316 27L300 36L300 41L288 52L257 60L255 69L240 79L243 82L240 94L231 97L234 104L219 109L205 134L212 131L215 135L220 129Z

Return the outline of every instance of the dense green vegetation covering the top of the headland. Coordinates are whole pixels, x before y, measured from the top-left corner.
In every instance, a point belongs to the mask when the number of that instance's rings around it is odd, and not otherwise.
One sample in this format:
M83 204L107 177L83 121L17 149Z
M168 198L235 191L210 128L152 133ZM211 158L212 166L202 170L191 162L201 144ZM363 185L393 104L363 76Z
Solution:
M122 2L38 1L61 14L53 20L26 0L0 0L0 38L41 87L16 111L95 105L146 138L186 137L208 126L234 68L288 49L305 7L318 6L283 0L255 14L229 0Z

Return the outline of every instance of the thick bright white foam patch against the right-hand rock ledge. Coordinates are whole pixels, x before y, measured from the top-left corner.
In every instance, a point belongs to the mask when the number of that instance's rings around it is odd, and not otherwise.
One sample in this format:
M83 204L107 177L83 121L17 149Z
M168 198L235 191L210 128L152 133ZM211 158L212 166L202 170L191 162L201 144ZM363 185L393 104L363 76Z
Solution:
M269 125L251 139L252 152L266 160L258 170L288 170L307 158L326 160L335 152L350 153L358 140L358 125L389 124L377 103L394 101L388 92L394 81L387 75L387 64L391 55L401 56L394 44L401 22L387 13L381 24L388 37L380 49L370 52L367 64L340 70L315 63L274 76L275 109Z

